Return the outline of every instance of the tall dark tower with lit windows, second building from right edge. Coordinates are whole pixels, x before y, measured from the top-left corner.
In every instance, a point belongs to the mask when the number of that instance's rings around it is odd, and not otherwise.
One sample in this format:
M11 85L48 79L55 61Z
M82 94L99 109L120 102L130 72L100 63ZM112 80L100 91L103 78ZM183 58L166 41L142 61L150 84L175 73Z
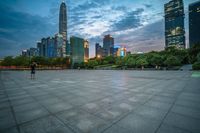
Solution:
M183 0L171 0L165 4L165 45L185 48Z

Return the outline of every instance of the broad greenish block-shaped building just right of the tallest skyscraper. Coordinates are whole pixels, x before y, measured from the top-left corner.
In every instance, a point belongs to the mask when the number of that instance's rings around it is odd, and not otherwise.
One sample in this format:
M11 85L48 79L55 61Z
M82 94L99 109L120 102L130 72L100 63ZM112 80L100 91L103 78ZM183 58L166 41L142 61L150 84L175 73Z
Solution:
M70 46L72 66L84 62L84 39L72 36L70 37Z

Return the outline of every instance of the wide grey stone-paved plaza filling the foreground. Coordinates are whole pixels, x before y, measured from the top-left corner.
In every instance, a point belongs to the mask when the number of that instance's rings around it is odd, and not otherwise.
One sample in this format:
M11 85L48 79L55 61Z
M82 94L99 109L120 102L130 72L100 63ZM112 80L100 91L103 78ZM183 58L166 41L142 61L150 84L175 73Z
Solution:
M0 133L200 133L200 73L0 71Z

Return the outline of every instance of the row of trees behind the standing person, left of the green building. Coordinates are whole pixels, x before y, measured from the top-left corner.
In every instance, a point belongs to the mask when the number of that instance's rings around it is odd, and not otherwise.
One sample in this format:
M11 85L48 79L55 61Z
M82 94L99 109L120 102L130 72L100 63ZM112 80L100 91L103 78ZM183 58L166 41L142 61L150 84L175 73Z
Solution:
M32 62L36 62L39 66L66 67L69 65L69 58L45 58L39 56L38 57L8 56L3 59L0 65L29 67Z

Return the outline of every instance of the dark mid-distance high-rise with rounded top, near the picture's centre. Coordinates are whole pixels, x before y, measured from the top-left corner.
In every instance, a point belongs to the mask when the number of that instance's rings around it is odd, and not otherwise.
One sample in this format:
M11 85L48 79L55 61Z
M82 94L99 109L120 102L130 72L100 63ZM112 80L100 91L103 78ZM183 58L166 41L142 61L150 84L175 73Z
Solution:
M113 54L114 54L114 38L111 35L104 36L103 48L105 50L105 56L113 56Z

